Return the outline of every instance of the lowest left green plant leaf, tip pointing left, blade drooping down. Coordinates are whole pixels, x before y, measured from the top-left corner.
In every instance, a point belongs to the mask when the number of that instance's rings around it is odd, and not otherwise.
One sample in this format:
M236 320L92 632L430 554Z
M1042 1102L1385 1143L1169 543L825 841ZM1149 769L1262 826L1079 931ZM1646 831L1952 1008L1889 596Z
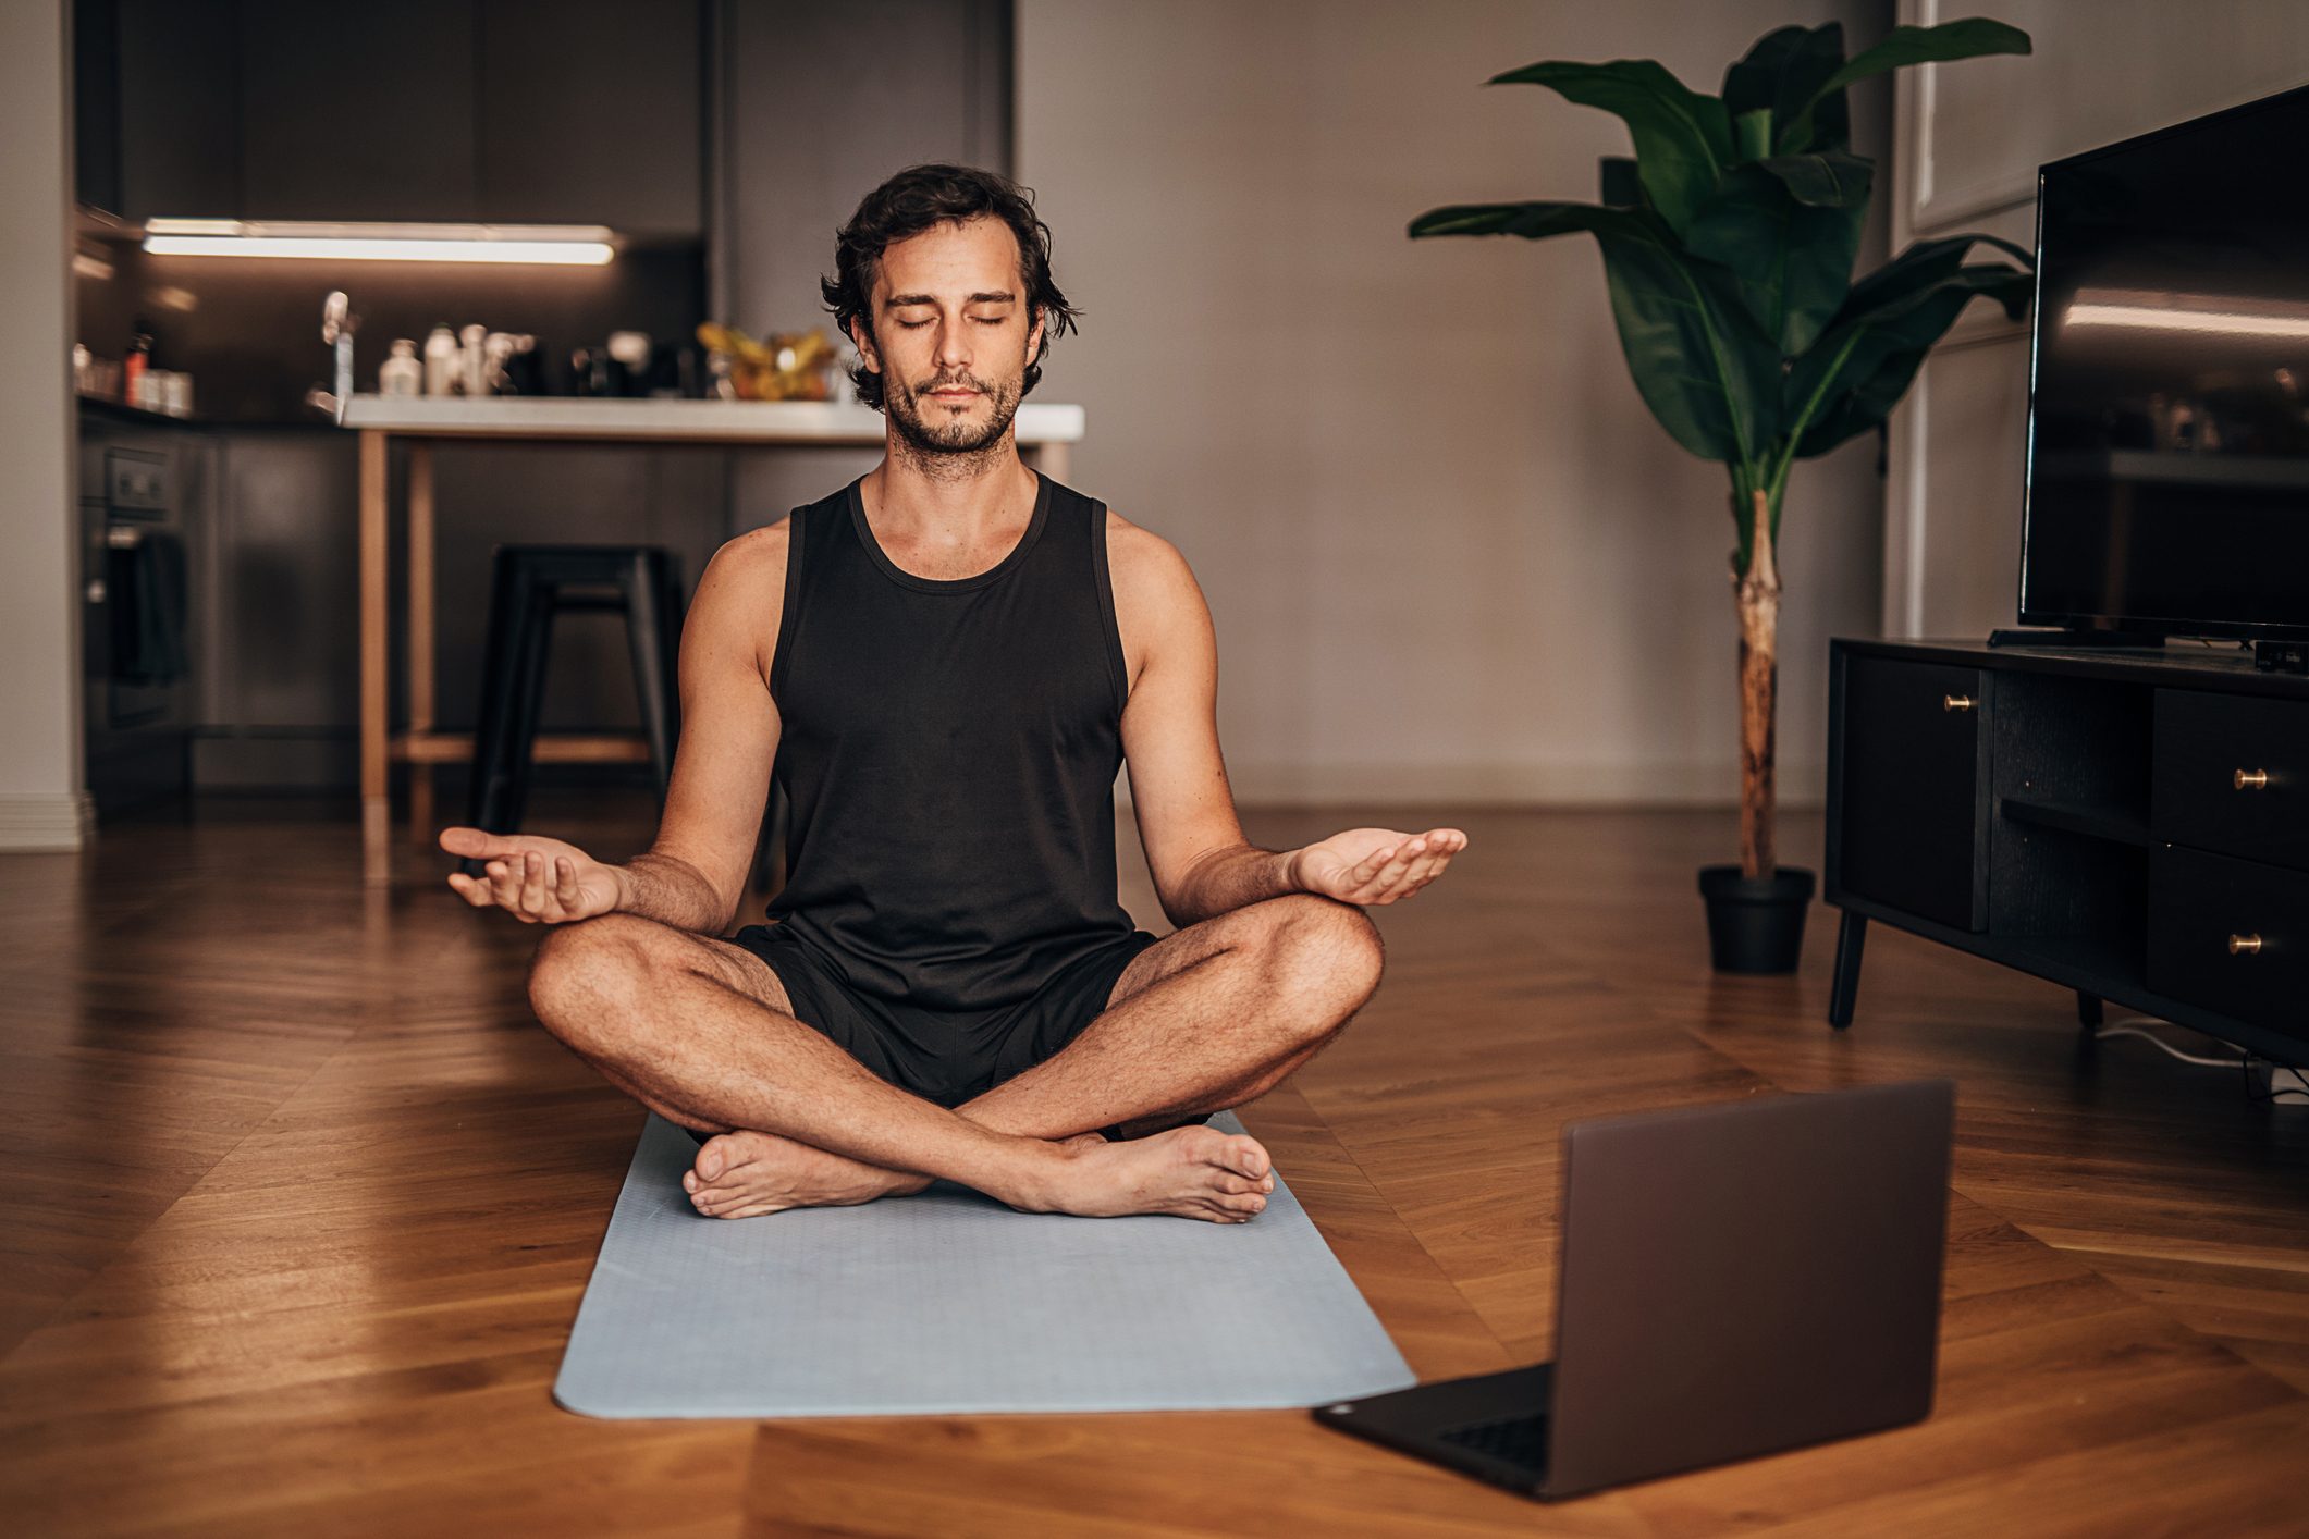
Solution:
M1651 415L1702 459L1753 461L1778 431L1780 351L1725 268L1688 256L1656 215L1593 203L1457 203L1411 235L1589 231L1602 247L1612 318Z

